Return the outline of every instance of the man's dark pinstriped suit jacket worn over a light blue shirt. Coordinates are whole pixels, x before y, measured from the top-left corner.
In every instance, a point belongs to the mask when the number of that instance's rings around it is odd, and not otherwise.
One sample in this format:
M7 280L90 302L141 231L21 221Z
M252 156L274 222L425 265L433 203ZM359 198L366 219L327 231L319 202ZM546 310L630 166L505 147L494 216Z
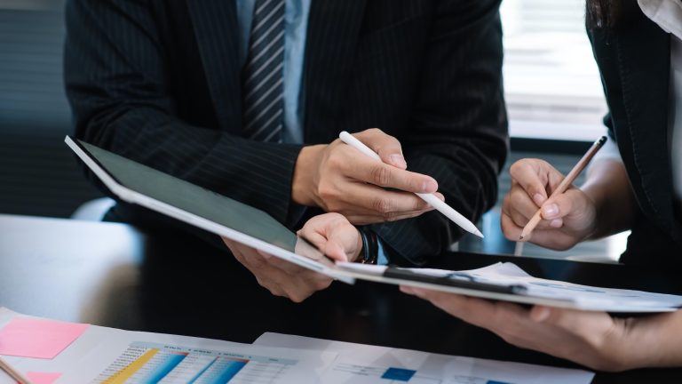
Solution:
M498 3L313 2L305 143L379 127L400 140L410 170L477 220L496 202L507 150ZM286 222L301 146L240 137L238 57L234 1L68 1L75 134ZM436 212L373 229L415 263L462 233Z

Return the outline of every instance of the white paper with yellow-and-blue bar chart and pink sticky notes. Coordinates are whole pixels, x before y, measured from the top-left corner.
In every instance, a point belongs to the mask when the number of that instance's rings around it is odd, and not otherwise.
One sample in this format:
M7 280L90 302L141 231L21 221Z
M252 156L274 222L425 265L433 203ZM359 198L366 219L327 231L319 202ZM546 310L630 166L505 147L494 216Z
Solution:
M321 382L337 356L36 320L6 308L0 308L0 346L7 347L0 349L5 361L36 372L28 378L41 384ZM14 380L0 372L0 383Z

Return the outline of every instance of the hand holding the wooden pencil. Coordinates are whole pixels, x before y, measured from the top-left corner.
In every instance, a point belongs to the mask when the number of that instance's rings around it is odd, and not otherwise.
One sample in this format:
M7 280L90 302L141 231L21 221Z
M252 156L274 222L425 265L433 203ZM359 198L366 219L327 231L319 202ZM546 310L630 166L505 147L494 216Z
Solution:
M512 164L512 188L504 196L502 230L504 236L519 241L521 230L542 208L542 218L530 236L534 244L566 250L595 231L596 207L583 190L570 187L559 196L548 196L559 187L564 175L538 159L522 159Z

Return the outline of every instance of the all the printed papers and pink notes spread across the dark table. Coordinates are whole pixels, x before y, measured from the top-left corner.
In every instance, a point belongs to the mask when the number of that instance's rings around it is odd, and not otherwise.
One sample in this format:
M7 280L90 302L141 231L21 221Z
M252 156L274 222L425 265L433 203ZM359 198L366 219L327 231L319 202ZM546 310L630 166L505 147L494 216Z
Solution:
M0 308L0 355L50 383L589 383L593 373L266 333L253 345L22 316ZM0 372L0 384L14 384Z

